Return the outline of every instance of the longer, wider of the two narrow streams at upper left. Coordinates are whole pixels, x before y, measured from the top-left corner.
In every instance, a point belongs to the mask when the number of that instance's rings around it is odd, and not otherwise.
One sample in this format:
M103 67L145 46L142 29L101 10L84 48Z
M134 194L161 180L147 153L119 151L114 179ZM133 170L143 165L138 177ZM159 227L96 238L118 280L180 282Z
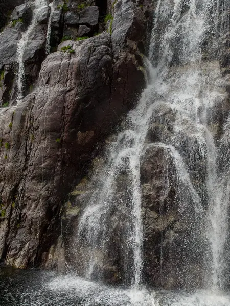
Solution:
M46 0L35 0L34 1L34 10L31 24L28 29L22 33L20 40L17 43L17 63L18 63L18 72L17 72L17 104L20 103L23 98L23 90L25 83L25 66L24 66L24 51L27 47L28 39L30 33L33 31L36 22L37 22L37 14L41 8L47 6Z

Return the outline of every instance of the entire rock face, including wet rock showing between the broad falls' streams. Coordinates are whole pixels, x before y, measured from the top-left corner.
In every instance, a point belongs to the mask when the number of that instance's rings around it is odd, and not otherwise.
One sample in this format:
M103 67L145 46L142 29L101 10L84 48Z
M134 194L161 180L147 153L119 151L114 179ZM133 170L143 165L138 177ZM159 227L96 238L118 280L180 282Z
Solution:
M0 34L0 258L18 268L65 271L71 267L83 275L89 252L87 244L76 252L79 216L106 164L103 148L114 142L114 130L146 86L144 61L156 1L55 0L52 8L48 3L41 7L36 20L30 1L10 1L10 5L11 21L6 25L4 7L5 21L0 25L5 27ZM33 31L27 32L30 25ZM17 43L24 36L24 98L16 105ZM227 38L223 44L229 47ZM223 52L220 64L200 65L219 76L225 73L225 83L218 77L221 82L215 86L226 98L221 107L214 103L208 109L212 119L207 125L216 142L229 112L228 60ZM190 68L170 67L170 77L176 80ZM215 78L207 78L207 85L213 87ZM176 86L180 84L175 82L169 92ZM185 120L175 136L176 111L161 103L163 94L158 98L140 160L142 278L150 286L191 289L201 286L207 268L203 249L208 250L208 245L201 235L204 224L197 221L192 196L178 174L172 139L189 161L186 167L204 207L206 191L200 182L206 160L200 163L191 154L194 124ZM127 244L124 228L131 223L128 174L124 167L114 184L117 205L108 217L112 237L106 242L108 251L95 250L94 277L112 284L128 283L130 267L120 249L125 240Z

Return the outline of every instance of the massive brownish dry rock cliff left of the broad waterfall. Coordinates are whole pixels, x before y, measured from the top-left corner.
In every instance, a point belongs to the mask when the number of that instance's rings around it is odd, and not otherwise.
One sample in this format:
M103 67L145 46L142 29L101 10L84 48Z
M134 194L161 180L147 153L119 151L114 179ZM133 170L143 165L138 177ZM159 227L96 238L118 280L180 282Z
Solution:
M19 105L2 108L0 119L0 257L6 264L19 268L60 265L64 257L60 218L65 199L145 86L140 68L144 66L145 15L132 1L117 3L116 14L125 6L133 19L130 29L135 25L143 31L141 50L128 30L121 41L107 32L93 36L103 18L100 12L104 14L104 7L97 3L79 9L78 2L72 1L66 13L62 2L55 2L53 48L68 28L85 35L87 27L93 37L66 40L47 58L49 8L42 8L29 33L24 52L25 94L31 91L30 85L34 88ZM113 13L112 4L109 12ZM112 27L118 29L123 23L125 19L116 17ZM0 35L2 104L9 100L15 104L16 43L27 29L27 24L10 23Z

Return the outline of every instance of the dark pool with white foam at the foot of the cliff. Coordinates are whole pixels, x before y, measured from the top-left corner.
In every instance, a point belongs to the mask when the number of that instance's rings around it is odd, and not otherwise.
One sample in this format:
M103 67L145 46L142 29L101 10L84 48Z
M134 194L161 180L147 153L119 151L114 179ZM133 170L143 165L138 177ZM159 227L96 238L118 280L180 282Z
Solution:
M87 281L74 274L0 268L1 306L230 306L230 295L136 290Z

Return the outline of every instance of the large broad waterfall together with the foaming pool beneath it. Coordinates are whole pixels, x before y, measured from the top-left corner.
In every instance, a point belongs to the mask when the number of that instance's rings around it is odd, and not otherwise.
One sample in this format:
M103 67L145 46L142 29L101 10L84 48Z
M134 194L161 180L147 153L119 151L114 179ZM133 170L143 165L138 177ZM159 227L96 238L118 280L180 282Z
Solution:
M0 301L8 298L9 305L230 305L226 291L230 116L225 111L228 80L220 66L229 10L230 3L224 0L158 0L147 61L149 84L137 107L129 112L125 129L110 144L104 174L96 178L97 191L79 221L75 251L84 278L39 274L36 280L32 277L30 288L16 285L15 293L5 294ZM166 126L153 143L147 141L150 124ZM199 283L205 290L189 294L143 287L140 163L149 147L164 149L175 169L175 201L180 216L190 216L188 243L194 242L194 254L202 253L202 271L197 269L195 274L201 273ZM166 172L165 190L170 188L168 168ZM127 185L125 196L118 193L122 177ZM118 243L113 240L110 218L120 204L122 230L116 235L121 244L122 279L132 285L127 288L105 286L98 274L102 256L109 256ZM81 253L83 249L86 253ZM183 274L185 266L176 264L181 278L188 276L188 272ZM164 259L162 271L163 265ZM5 279L6 293L11 278Z

